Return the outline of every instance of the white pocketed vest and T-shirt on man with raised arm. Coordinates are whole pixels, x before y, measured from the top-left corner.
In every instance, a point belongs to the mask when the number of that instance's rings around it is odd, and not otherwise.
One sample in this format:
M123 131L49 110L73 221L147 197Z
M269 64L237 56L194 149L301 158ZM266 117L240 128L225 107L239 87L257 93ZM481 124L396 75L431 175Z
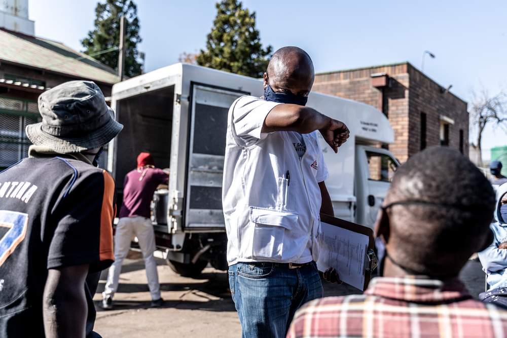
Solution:
M222 201L227 260L317 260L321 195L328 177L317 133L262 133L280 103L242 96L229 109ZM300 157L294 143L306 147Z

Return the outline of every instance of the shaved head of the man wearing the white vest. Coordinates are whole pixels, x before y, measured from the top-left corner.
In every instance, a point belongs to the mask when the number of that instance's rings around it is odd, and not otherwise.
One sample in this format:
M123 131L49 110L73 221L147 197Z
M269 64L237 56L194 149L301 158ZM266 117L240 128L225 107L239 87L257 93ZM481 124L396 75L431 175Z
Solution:
M277 50L264 73L264 87L270 85L275 91L290 91L294 95L308 95L315 70L308 53L298 47L282 47Z

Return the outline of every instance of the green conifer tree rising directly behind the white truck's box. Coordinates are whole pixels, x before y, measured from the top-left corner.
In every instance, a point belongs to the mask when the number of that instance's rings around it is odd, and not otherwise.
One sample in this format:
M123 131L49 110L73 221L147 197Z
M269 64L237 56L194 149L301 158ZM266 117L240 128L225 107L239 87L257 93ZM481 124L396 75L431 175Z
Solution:
M249 77L262 77L273 48L262 48L255 12L250 14L237 0L216 4L216 18L207 36L206 50L201 50L197 63Z

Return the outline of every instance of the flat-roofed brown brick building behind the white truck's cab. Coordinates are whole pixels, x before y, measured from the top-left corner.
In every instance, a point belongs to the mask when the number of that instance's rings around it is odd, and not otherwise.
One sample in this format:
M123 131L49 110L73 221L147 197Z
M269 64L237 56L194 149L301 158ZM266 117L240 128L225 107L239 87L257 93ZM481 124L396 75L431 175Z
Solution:
M468 154L467 103L409 62L319 73L313 90L383 111L394 129L389 149L401 162L439 144Z

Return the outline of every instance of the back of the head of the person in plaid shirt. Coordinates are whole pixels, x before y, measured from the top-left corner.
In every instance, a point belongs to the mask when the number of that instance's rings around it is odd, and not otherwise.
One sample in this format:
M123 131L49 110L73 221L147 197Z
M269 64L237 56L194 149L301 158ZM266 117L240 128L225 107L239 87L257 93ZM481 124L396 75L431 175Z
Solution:
M395 173L377 224L397 263L421 274L456 276L490 240L495 196L466 157L431 147Z

